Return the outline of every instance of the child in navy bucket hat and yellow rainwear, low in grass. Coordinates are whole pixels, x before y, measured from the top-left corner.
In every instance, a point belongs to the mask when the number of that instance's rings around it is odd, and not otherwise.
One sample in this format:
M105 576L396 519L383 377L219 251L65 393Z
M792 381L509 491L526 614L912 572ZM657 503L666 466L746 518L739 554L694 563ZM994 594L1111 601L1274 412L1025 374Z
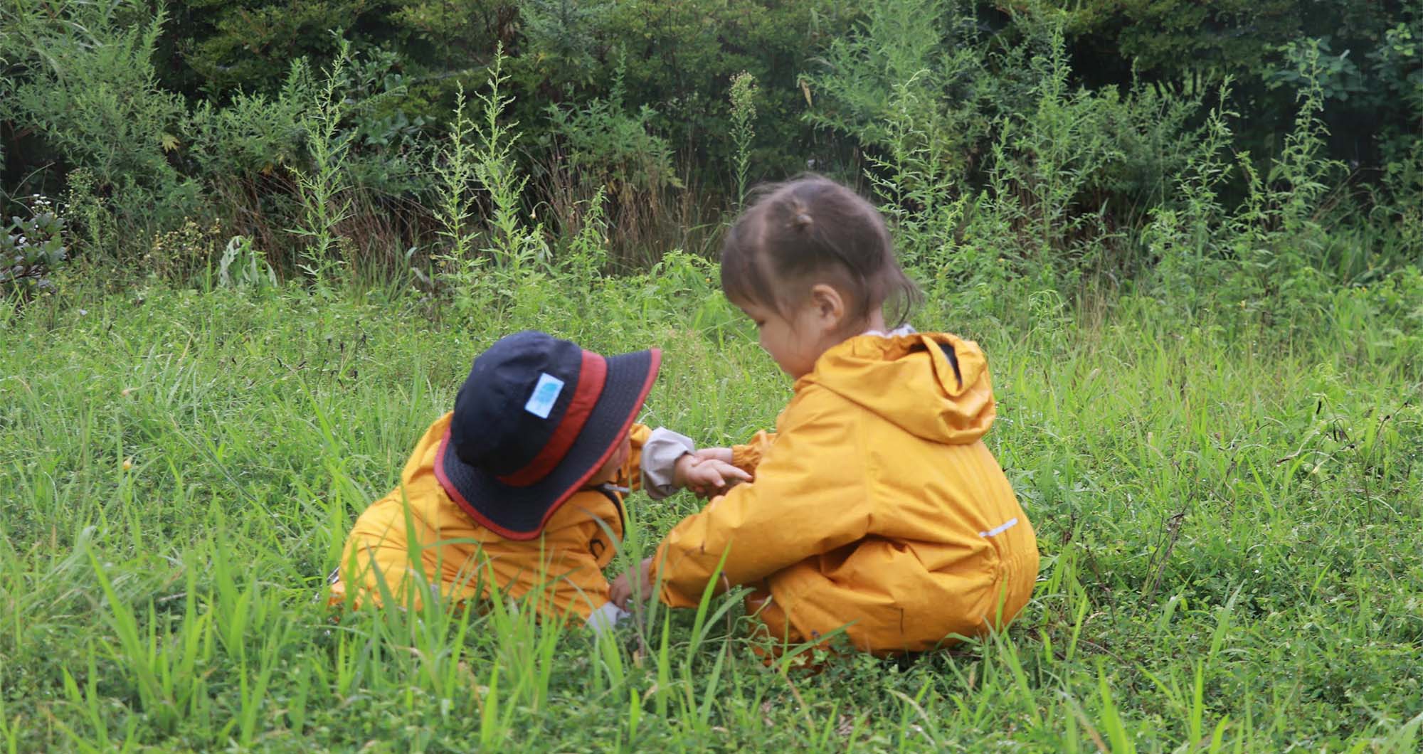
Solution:
M623 533L622 495L748 478L696 458L683 435L633 424L660 359L656 349L605 359L536 331L480 354L400 485L356 521L333 603L418 605L427 593L465 600L498 589L532 596L541 615L616 622L602 569Z

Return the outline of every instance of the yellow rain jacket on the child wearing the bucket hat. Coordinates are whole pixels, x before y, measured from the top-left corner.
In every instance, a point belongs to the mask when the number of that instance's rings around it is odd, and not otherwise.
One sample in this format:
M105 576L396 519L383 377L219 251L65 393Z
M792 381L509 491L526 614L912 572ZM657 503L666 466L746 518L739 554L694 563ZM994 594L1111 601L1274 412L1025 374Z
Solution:
M438 589L441 599L453 602L488 598L492 572L501 596L539 592L542 613L588 619L608 602L602 569L615 552L608 531L618 539L623 535L622 497L608 487L579 489L549 516L536 539L505 539L465 515L435 478L435 451L450 417L430 425L406 462L400 485L356 521L332 585L332 603L344 600L353 586L357 602L380 602L377 573L400 605L408 605L406 589L417 589L417 605L424 589ZM642 445L649 432L642 424L629 430L632 452L616 485L640 485ZM425 580L417 576L416 561Z

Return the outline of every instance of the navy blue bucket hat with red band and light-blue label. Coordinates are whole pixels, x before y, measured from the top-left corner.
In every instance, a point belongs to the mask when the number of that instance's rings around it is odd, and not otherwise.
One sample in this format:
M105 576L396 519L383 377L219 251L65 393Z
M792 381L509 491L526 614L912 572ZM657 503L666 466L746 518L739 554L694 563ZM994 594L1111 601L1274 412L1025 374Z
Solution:
M499 339L455 397L440 485L480 525L534 539L628 437L660 364L657 349L605 359L532 330Z

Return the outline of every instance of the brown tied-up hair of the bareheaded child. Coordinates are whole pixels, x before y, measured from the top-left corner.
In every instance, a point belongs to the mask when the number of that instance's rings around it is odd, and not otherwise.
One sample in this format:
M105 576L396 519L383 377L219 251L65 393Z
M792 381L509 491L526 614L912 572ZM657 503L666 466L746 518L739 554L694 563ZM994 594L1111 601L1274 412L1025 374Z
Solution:
M879 211L820 175L767 186L721 243L721 290L733 302L777 312L798 302L795 283L830 276L850 296L851 314L885 309L898 327L924 297L894 256Z

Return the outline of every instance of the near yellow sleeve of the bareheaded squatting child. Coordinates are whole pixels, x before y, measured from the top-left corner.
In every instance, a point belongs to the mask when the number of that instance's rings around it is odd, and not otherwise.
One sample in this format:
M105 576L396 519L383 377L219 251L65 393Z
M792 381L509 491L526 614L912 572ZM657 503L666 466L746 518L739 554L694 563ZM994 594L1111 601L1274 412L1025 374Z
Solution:
M756 481L712 499L657 548L652 569L662 600L696 606L723 553L717 592L864 538L871 499L859 411L825 390L797 395L776 442L764 442Z

